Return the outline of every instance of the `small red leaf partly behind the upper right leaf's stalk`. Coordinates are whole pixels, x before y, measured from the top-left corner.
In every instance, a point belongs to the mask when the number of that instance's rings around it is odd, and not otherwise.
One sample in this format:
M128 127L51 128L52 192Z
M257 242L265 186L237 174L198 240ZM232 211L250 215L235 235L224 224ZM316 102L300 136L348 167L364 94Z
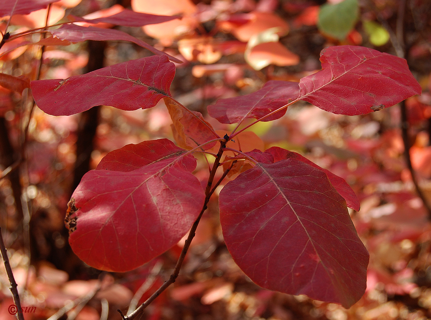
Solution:
M221 123L238 123L244 119L259 119L287 104L287 100L295 100L299 95L298 84L286 81L268 81L262 89L241 97L220 99L208 106L208 113ZM275 113L262 121L279 119L286 109Z

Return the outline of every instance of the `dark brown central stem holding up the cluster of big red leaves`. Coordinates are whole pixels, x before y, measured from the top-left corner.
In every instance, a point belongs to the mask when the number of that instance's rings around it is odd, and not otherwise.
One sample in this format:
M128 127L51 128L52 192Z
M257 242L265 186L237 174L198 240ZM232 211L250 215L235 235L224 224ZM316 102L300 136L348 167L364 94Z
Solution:
M190 247L191 241L193 240L194 236L195 236L195 232L197 229L197 225L199 224L200 218L202 217L203 213L205 212L208 202L209 202L209 198L212 195L212 192L214 192L213 190L211 190L212 187L212 182L214 181L214 177L215 177L215 172L217 171L217 168L219 167L220 164L220 160L222 158L222 154L223 154L223 148L226 146L226 143L229 141L229 137L228 135L225 135L225 140L220 142L220 148L219 148L219 152L217 153L217 157L215 158L214 164L212 166L211 172L209 173L209 178L208 178L208 183L206 184L206 188L205 188L205 201L203 203L203 208L199 213L199 216L197 217L196 221L193 223L193 226L190 229L189 235L187 237L186 242L184 243L184 247L181 250L181 254L180 257L178 258L177 264L175 265L175 269L172 272L171 276L169 277L168 280L166 280L159 289L156 290L156 292L154 292L150 298L147 299L147 301L145 301L143 304L141 304L139 307L137 307L137 309L135 311L133 311L131 314L129 314L128 316L125 316L121 310L118 310L119 314L121 315L123 320L133 320L135 317L137 317L139 314L141 314L144 309L151 303L154 301L154 299L156 299L163 291L166 290L166 288L169 287L169 285L171 285L172 283L175 282L175 280L178 277L178 274L180 272L181 269L181 265L184 262L184 258L187 254L187 251ZM226 173L227 174L227 173ZM219 182L218 182L219 183Z

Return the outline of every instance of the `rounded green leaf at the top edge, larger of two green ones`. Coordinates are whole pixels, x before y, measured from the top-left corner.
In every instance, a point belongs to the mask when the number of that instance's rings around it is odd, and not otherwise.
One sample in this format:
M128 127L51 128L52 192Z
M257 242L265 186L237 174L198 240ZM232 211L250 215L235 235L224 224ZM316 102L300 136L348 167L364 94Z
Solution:
M344 40L359 18L357 0L344 0L337 4L324 4L319 11L317 26L323 33Z

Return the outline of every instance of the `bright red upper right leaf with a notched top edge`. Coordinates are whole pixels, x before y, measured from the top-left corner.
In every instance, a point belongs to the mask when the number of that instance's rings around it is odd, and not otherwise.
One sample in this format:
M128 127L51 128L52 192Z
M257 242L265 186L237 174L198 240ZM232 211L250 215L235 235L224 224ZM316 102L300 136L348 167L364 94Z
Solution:
M406 60L377 50L328 47L320 61L321 71L301 79L299 99L332 113L366 114L422 91Z

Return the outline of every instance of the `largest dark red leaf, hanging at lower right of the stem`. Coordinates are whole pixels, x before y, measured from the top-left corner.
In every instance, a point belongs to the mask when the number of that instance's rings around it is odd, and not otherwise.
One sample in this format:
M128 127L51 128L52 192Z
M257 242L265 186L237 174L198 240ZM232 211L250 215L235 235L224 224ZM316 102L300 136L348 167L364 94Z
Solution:
M296 159L257 163L220 192L229 252L263 288L350 307L369 254L322 170Z

